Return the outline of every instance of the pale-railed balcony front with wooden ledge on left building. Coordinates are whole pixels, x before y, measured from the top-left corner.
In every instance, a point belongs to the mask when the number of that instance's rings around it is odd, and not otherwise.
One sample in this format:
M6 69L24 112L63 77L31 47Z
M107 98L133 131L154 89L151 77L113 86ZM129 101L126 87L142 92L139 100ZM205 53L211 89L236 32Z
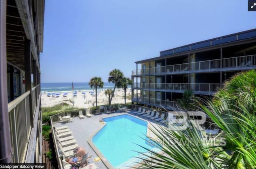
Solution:
M41 163L40 85L8 103L13 163ZM40 138L39 138L40 137Z

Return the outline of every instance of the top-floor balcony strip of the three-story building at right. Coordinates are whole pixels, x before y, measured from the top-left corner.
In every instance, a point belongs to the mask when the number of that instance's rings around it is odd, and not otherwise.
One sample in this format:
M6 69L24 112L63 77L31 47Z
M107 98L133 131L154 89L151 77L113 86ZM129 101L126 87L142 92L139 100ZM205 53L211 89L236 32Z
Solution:
M235 71L251 69L251 67L256 67L256 55L230 57L208 61L182 63L177 65L167 65L162 67L152 67L147 69L138 69L132 71L132 76Z

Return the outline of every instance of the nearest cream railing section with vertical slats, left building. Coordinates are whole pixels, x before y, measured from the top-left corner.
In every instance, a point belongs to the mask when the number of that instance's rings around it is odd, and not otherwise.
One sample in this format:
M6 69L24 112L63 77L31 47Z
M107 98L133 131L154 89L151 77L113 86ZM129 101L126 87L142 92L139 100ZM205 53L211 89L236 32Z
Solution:
M8 104L13 163L24 163L30 136L30 91Z

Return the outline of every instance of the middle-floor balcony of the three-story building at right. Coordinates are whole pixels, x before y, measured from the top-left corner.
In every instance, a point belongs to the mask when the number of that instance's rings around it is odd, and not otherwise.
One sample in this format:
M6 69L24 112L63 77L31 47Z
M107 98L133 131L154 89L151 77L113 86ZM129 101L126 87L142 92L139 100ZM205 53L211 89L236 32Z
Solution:
M163 92L179 92L192 90L195 94L213 94L222 87L220 83L134 83L138 90L153 90Z

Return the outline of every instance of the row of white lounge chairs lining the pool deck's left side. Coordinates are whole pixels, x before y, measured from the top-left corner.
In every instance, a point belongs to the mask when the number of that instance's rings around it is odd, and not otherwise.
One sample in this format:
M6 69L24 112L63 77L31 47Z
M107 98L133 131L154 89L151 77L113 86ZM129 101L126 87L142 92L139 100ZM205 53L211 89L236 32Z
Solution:
M56 127L55 134L58 147L64 156L68 157L74 155L74 149L78 147L78 144L68 126Z

